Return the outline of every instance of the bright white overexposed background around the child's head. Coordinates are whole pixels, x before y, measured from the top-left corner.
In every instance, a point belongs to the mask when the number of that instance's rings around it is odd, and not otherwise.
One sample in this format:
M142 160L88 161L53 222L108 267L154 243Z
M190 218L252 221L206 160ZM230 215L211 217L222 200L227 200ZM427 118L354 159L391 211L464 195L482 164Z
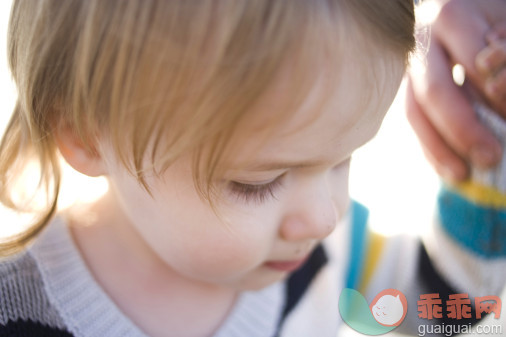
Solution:
M0 1L0 134L16 100L5 46L10 6L11 0ZM63 207L77 199L91 199L107 188L104 179L86 178L68 168L65 176ZM351 196L369 208L373 230L385 235L427 230L438 179L406 121L404 84L378 135L353 156L350 179ZM26 222L26 217L0 206L0 236L15 233Z

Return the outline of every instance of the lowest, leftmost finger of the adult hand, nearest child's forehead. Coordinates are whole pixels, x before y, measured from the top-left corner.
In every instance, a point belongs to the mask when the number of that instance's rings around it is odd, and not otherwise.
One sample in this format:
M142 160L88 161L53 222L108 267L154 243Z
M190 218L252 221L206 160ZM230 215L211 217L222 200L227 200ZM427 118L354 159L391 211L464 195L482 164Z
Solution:
M464 180L469 174L465 161L451 150L425 117L413 95L411 81L408 81L406 90L407 118L420 140L425 156L445 180L453 182Z

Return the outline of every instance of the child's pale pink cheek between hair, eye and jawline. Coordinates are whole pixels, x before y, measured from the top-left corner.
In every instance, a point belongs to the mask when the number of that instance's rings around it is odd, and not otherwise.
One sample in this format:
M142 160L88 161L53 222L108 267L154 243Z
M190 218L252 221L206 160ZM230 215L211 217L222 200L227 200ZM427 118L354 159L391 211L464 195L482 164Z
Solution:
M277 231L268 212L227 206L218 217L194 188L177 182L171 188L156 185L151 196L135 180L118 180L114 185L136 231L182 275L233 281L271 253Z

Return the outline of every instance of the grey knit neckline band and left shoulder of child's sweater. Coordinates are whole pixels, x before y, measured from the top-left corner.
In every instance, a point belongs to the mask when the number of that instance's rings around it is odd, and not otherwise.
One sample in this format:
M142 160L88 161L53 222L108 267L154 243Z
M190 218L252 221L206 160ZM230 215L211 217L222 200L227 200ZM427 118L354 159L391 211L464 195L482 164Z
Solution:
M60 218L0 273L0 323L12 336L70 336L65 329L76 337L146 336L95 282ZM242 293L215 336L274 336L284 296L283 282Z

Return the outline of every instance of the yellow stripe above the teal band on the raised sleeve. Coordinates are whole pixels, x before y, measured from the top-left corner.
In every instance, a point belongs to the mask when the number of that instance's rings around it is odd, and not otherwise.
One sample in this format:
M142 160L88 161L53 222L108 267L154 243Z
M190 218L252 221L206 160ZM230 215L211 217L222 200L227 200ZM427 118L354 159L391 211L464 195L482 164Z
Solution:
M506 195L495 188L467 181L458 184L455 189L457 193L480 206L506 208Z

